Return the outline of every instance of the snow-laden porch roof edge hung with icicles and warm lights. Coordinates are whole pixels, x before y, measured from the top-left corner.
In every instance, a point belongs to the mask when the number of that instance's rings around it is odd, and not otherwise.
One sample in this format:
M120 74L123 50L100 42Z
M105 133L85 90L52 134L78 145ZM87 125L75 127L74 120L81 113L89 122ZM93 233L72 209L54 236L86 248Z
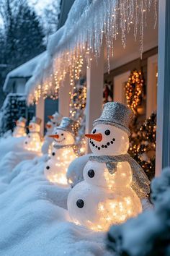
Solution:
M58 44L53 42L55 49L53 52L53 74L55 76L55 90L53 86L42 83L42 93L49 95L54 93L54 98L58 97L58 90L61 81L66 73L76 67L75 62L82 56L86 65L89 56L99 57L103 38L106 40L107 60L109 70L109 59L114 52L113 41L121 35L122 46L125 48L127 35L133 30L135 40L139 37L140 56L143 53L143 34L147 24L147 14L154 12L155 24L157 22L157 2L158 0L76 0L68 14L63 35ZM79 13L77 10L79 9ZM56 40L54 38L53 40ZM50 55L50 53L49 53ZM77 70L77 69L75 69ZM79 70L74 72L74 77L79 74ZM51 79L51 78L50 78ZM49 79L47 79L49 80ZM45 80L45 81L47 81ZM50 81L49 81L50 82ZM37 87L31 93L30 100L37 101Z

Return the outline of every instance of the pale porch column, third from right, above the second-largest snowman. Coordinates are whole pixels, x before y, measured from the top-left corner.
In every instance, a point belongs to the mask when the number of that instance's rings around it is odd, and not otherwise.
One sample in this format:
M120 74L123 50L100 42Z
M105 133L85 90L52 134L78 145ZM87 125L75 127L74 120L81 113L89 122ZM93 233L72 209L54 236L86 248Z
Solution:
M61 88L59 89L59 103L58 110L62 116L69 116L69 96L70 89L70 77L69 74L66 74L65 80L63 80Z

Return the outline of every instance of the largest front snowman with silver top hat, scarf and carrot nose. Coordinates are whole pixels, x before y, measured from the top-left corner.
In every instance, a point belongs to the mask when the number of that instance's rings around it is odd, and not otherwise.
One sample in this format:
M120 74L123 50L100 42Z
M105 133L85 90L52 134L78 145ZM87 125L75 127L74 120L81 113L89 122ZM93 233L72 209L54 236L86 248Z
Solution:
M142 211L140 200L150 192L150 182L128 155L132 116L127 106L106 103L91 134L86 135L94 155L84 166L84 182L68 195L68 213L75 223L106 231Z

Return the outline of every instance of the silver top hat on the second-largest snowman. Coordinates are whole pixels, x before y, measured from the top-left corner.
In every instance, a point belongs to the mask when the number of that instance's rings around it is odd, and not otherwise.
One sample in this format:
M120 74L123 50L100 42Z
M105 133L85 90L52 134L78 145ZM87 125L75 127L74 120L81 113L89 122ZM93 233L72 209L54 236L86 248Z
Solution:
M76 136L79 129L79 123L73 119L70 119L69 117L63 117L60 126L56 129L62 129L63 131L71 132L72 135Z

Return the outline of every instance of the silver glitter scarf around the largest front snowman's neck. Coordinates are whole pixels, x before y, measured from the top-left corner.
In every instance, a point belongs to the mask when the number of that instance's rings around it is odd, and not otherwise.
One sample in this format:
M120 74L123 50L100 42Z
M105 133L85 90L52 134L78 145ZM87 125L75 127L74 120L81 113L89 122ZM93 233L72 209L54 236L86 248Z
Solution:
M107 169L110 174L114 174L117 171L117 163L118 162L128 162L133 172L133 184L131 187L135 190L138 197L143 198L147 197L150 193L150 181L146 176L143 168L133 159L130 155L91 155L89 157L90 161L97 161L99 163L106 163Z

